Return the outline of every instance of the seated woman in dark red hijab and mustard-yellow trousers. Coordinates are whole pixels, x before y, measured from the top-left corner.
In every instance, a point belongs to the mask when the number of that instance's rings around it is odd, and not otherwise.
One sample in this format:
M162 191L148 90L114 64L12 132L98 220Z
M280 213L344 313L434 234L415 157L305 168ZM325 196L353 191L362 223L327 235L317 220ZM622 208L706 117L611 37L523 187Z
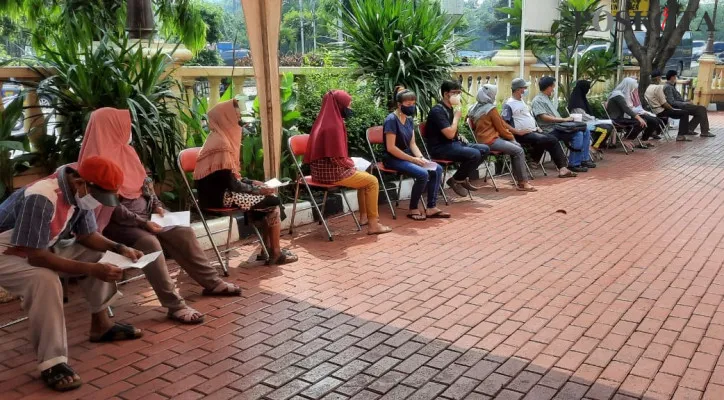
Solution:
M342 90L331 90L322 98L322 109L309 133L304 162L312 169L312 178L320 183L357 189L359 219L369 224L368 234L379 235L392 229L380 224L377 178L357 171L349 158L344 118L352 115L352 97Z

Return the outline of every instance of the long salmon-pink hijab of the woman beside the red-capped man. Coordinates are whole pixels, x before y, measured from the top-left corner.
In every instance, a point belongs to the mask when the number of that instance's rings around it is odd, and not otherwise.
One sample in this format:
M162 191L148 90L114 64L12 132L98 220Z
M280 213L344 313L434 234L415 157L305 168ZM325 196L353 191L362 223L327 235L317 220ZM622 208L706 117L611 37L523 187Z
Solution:
M146 169L129 144L131 141L131 114L128 110L99 108L93 111L85 129L83 143L80 146L78 162L85 158L100 156L115 161L124 174L123 184L118 194L125 199L137 199L143 194L143 181ZM95 210L98 232L108 225L113 213L112 207L99 207Z

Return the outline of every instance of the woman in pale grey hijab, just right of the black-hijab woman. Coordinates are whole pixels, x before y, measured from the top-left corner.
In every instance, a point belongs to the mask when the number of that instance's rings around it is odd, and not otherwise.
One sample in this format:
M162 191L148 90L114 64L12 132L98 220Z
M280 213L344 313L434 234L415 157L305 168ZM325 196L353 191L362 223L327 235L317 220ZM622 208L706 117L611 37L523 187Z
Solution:
M636 140L641 134L641 140L647 143L638 147L654 147L648 141L649 139L661 139L659 133L662 122L641 107L638 87L639 83L636 79L624 78L608 96L606 111L613 122L630 128L630 132L625 138L627 143L624 143L624 146L633 148L633 140Z

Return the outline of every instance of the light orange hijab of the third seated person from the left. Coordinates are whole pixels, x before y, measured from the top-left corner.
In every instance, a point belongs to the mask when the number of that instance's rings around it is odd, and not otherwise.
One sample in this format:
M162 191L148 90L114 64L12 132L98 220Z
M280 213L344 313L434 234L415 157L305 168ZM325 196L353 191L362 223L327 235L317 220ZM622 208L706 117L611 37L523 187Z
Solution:
M210 133L196 160L195 180L224 169L241 178L241 127L235 106L236 100L229 100L209 110Z

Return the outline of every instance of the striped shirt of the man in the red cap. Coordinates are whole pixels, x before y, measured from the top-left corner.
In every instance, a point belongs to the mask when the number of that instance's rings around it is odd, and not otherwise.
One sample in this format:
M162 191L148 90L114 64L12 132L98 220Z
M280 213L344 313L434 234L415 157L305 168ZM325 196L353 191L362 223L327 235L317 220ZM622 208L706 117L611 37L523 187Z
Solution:
M70 167L17 190L0 204L0 247L47 249L58 241L95 232L93 211L81 210L68 182ZM16 253L16 252L12 252Z

